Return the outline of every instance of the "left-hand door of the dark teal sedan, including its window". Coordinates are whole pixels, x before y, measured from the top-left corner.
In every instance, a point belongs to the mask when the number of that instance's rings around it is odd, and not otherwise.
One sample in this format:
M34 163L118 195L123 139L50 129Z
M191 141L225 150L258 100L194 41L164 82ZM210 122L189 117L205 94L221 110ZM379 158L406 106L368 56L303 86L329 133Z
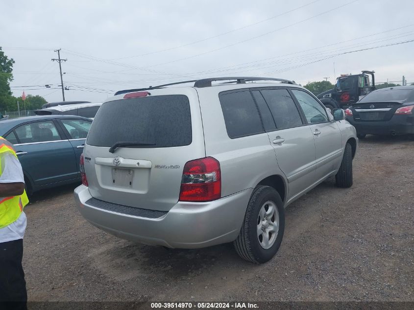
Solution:
M5 138L16 140L16 154L35 186L77 176L73 173L73 147L52 119L16 126Z

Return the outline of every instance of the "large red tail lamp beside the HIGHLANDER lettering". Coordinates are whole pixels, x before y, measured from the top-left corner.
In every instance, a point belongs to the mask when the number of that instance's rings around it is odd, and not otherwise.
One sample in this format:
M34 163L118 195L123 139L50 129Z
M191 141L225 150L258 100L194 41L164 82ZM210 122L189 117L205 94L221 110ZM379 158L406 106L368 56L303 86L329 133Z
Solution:
M181 178L180 201L212 201L221 198L220 163L213 157L187 162Z

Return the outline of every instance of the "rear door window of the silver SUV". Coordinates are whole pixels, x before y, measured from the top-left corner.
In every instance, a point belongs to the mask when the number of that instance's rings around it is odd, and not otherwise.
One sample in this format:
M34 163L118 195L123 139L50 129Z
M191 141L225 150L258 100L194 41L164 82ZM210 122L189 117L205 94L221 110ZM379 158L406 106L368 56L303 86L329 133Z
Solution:
M277 129L301 126L299 111L286 89L267 89L260 91L265 98Z

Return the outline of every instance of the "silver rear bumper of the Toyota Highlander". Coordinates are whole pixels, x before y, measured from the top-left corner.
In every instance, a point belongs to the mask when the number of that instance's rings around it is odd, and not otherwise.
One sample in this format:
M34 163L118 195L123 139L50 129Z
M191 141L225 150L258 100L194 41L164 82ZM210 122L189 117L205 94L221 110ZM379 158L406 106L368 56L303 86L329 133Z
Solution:
M204 203L178 202L159 218L104 210L87 204L86 186L74 191L78 210L92 225L116 237L170 248L201 248L237 238L252 189Z

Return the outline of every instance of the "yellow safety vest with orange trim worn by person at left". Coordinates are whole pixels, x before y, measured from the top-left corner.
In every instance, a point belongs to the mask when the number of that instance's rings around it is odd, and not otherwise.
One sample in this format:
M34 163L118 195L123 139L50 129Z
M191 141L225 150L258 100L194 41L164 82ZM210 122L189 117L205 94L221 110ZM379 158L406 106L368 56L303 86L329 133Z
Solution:
M3 137L0 137L0 157L6 152L12 153L16 156L13 144L8 142ZM0 160L0 175L1 175L1 160ZM5 197L0 200L0 228L6 227L17 220L23 211L23 208L29 199L27 198L26 191L20 196Z

